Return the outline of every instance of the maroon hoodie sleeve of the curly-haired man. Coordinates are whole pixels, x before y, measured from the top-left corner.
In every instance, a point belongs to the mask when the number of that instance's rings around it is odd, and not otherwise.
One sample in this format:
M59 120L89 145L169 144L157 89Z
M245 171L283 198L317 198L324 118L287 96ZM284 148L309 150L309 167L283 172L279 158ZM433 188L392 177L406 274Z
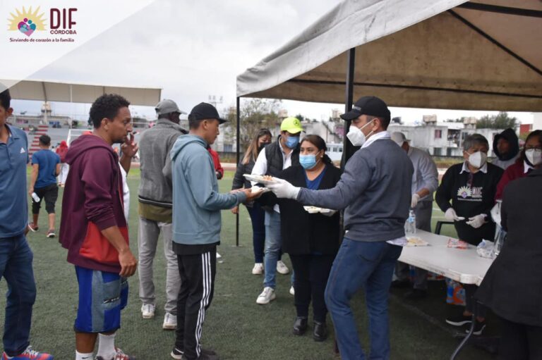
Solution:
M116 226L111 195L114 170L111 154L107 149L95 149L92 155L85 155L81 175L85 192L85 214L88 221L95 223L100 230Z

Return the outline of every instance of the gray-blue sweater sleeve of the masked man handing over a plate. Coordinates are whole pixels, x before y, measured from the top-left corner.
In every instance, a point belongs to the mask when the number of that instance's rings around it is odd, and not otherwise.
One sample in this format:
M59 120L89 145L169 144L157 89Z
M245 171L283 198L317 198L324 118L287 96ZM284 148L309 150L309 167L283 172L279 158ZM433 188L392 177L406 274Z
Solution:
M326 209L346 208L367 189L371 182L373 170L366 159L363 159L361 154L359 155L350 159L335 187L328 190L301 188L297 200L304 205L320 206Z

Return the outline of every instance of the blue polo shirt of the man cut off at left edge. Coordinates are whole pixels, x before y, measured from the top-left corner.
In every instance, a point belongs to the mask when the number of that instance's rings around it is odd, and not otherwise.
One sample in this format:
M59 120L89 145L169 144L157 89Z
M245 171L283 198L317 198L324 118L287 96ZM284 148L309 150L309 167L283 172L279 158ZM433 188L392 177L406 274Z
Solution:
M23 130L6 126L8 142L0 142L0 238L22 234L28 223L28 139Z

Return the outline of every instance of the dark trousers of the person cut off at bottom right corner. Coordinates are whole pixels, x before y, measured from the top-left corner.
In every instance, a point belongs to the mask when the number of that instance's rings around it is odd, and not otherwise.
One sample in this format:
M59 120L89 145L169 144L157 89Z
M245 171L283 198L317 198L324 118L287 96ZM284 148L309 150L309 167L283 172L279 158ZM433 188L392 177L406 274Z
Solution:
M498 359L542 359L542 327L512 323L504 318L501 321L502 337Z

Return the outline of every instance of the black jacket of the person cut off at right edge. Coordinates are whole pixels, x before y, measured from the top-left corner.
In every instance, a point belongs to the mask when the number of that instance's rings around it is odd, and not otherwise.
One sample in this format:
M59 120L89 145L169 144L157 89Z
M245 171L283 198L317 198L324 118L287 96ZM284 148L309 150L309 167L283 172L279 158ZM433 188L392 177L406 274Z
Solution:
M542 169L514 180L502 197L507 240L475 297L514 323L542 326Z

